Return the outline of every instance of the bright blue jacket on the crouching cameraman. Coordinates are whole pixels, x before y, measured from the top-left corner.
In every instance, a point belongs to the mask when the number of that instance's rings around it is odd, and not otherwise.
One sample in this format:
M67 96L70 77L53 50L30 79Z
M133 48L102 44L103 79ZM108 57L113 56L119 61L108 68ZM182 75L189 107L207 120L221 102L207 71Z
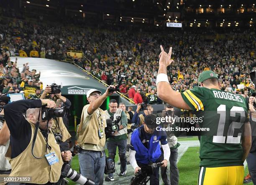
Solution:
M131 135L132 145L136 151L136 161L143 164L148 164L151 162L154 163L161 155L161 149L159 145L161 135L157 136L154 133L148 142L148 148L146 148L141 142L141 129L144 129L143 125L134 130Z

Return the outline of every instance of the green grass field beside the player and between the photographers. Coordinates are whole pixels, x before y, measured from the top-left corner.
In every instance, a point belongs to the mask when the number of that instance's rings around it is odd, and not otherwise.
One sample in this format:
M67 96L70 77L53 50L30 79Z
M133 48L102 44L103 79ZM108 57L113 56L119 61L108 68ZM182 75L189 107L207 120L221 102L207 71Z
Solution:
M189 140L198 140L197 137L193 138L179 138L179 141L189 141ZM117 151L118 153L118 151ZM107 151L106 154L108 155ZM115 161L118 161L118 155L115 155ZM179 160L179 185L196 185L197 177L199 171L199 147L189 147L188 150L184 153L182 158ZM72 159L72 168L79 171L78 156L75 156ZM248 174L248 168L245 169L245 176ZM160 175L161 176L161 175ZM160 177L161 178L161 177ZM104 181L105 182L105 181ZM112 182L113 185L117 184L115 181ZM129 182L123 184L128 185ZM69 185L75 185L72 181L69 182ZM119 184L120 185L120 184ZM248 185L253 185L249 183Z

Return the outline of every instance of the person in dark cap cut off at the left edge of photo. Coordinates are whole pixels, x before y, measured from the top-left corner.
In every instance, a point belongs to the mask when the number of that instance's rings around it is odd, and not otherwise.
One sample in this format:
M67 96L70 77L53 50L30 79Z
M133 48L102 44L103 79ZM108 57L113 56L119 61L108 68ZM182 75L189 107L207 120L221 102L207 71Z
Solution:
M11 172L10 163L7 158L5 158L10 144L10 131L3 117L3 106L8 103L9 99L9 97L4 95L0 97L0 177L3 176L1 174L10 174Z

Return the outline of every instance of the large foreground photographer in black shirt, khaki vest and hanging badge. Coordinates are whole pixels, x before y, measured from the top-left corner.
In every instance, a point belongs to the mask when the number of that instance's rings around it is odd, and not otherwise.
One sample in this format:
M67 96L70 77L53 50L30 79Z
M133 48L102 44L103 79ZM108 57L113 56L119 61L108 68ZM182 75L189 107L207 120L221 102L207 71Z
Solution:
M51 100L19 100L4 107L12 146L10 176L29 175L28 183L51 185L59 180L63 161L71 159L71 152L60 151L51 131L52 120L42 120L40 107L43 105L55 107ZM37 126L39 130L35 132Z

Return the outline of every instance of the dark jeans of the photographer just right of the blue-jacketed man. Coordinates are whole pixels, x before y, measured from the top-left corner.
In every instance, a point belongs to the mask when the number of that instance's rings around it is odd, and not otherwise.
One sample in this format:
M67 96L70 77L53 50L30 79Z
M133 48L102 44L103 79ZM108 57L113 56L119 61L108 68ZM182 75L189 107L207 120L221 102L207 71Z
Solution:
M161 160L164 160L164 153L161 149ZM167 175L167 168L161 167L161 177L164 182L164 185L178 185L179 184L179 169L177 167L177 159L178 159L178 148L171 149L171 155L169 158L170 162L170 179Z

